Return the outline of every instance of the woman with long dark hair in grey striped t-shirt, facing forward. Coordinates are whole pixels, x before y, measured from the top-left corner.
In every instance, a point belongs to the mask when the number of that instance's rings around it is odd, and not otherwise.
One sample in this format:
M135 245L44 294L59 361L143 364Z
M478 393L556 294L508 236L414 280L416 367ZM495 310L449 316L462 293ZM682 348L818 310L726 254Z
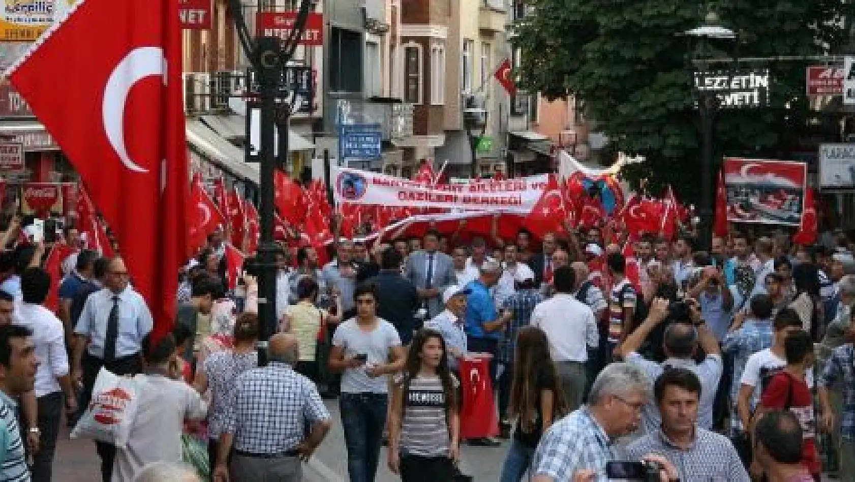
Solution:
M451 481L460 458L458 385L442 334L419 330L389 415L389 468L403 482Z

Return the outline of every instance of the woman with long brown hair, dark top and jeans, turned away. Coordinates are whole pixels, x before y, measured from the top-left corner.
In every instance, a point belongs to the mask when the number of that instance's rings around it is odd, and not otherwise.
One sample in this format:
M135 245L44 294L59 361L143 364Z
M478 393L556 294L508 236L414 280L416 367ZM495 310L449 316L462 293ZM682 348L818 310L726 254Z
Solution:
M514 381L510 389L514 440L504 459L500 482L520 482L531 466L540 436L567 413L563 390L549 354L549 340L540 328L526 326L516 335Z

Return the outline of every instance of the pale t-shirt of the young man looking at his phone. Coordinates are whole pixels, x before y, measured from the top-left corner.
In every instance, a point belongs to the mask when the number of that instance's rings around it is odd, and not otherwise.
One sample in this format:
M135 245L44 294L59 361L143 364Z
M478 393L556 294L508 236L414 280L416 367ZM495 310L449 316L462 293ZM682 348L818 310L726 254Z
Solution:
M345 321L333 334L333 346L345 350L345 358L365 354L368 362L362 367L348 368L341 375L342 393L388 393L386 377L371 378L366 368L389 362L392 348L401 346L398 330L392 323L377 319L377 326L370 332L363 331L356 318Z

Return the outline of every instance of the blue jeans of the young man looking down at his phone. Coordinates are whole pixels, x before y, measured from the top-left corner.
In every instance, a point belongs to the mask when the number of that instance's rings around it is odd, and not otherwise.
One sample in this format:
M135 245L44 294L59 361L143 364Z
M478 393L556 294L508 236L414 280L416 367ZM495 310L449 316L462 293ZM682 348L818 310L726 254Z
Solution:
M350 480L374 482L389 397L386 393L342 393L339 404Z

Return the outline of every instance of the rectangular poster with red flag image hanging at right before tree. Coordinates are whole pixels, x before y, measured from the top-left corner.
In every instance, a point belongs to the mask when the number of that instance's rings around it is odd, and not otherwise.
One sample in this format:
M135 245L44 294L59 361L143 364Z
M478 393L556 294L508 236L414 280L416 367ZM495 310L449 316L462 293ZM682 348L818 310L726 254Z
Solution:
M725 159L728 221L799 226L806 180L804 162Z

